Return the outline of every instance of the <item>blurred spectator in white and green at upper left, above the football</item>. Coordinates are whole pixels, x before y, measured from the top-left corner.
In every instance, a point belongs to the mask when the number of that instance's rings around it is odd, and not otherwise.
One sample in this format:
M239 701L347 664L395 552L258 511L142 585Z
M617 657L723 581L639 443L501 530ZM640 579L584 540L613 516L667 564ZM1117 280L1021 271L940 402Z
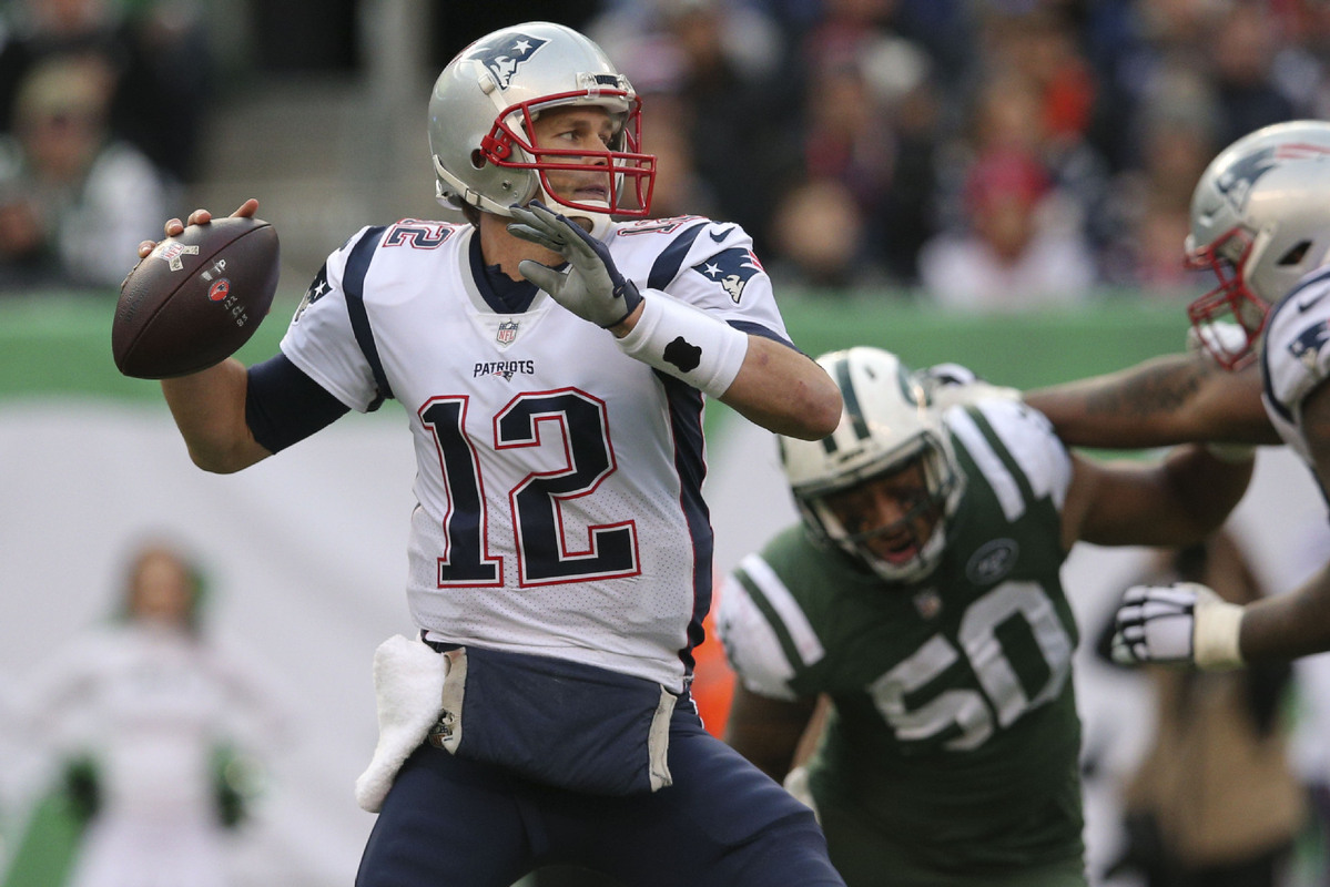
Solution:
M96 56L51 56L21 84L0 138L0 291L113 291L169 214L157 169L110 137L110 80Z

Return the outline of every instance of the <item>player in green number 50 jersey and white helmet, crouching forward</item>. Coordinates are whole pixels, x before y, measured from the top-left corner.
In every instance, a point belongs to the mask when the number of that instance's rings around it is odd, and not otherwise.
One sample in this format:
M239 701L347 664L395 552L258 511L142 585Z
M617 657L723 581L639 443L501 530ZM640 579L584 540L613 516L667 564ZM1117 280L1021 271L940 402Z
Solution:
M802 523L721 593L728 741L783 778L830 697L807 789L851 887L1084 887L1060 567L1077 540L1204 539L1250 463L1189 445L1097 464L1015 400L939 414L890 352L819 362L845 414L821 442L781 439Z

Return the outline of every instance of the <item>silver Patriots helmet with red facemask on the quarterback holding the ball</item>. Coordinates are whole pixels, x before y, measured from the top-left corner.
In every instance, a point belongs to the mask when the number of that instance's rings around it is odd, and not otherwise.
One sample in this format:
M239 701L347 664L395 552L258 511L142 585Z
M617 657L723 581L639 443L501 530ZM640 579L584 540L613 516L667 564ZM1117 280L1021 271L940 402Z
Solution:
M596 105L614 117L606 152L536 149L532 124L560 105ZM608 225L610 213L645 217L650 210L656 158L641 145L641 98L595 43L564 25L532 21L476 40L448 63L430 98L430 152L440 203L469 203L509 215L533 197L560 203ZM548 170L602 166L609 199L560 198ZM628 199L625 182L632 182ZM621 202L622 201L622 202Z

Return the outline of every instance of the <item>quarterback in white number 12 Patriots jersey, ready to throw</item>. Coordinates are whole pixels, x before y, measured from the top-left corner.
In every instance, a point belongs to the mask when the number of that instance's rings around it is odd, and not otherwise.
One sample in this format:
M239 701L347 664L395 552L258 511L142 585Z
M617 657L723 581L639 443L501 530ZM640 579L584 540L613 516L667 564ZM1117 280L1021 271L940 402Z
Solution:
M818 439L839 394L743 230L646 218L640 104L575 31L481 37L430 101L439 197L471 223L362 229L278 356L162 383L219 472L348 410L406 410L422 641L375 664L360 887L507 887L561 862L636 886L842 883L807 809L688 696L712 598L704 395Z

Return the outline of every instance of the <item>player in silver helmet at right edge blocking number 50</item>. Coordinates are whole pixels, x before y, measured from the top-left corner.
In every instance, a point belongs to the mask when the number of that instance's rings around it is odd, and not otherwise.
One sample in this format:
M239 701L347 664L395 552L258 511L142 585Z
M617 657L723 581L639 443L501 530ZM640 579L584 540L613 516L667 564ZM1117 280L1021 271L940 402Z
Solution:
M1323 488L1330 124L1278 124L1222 150L1193 193L1186 257L1220 281L1188 309L1204 354L1031 391L1025 400L1073 444L1283 442ZM1242 457L1241 448L1228 452ZM1124 598L1119 626L1115 654L1127 662L1229 668L1326 652L1330 567L1246 606L1222 602L1198 584L1137 586Z

